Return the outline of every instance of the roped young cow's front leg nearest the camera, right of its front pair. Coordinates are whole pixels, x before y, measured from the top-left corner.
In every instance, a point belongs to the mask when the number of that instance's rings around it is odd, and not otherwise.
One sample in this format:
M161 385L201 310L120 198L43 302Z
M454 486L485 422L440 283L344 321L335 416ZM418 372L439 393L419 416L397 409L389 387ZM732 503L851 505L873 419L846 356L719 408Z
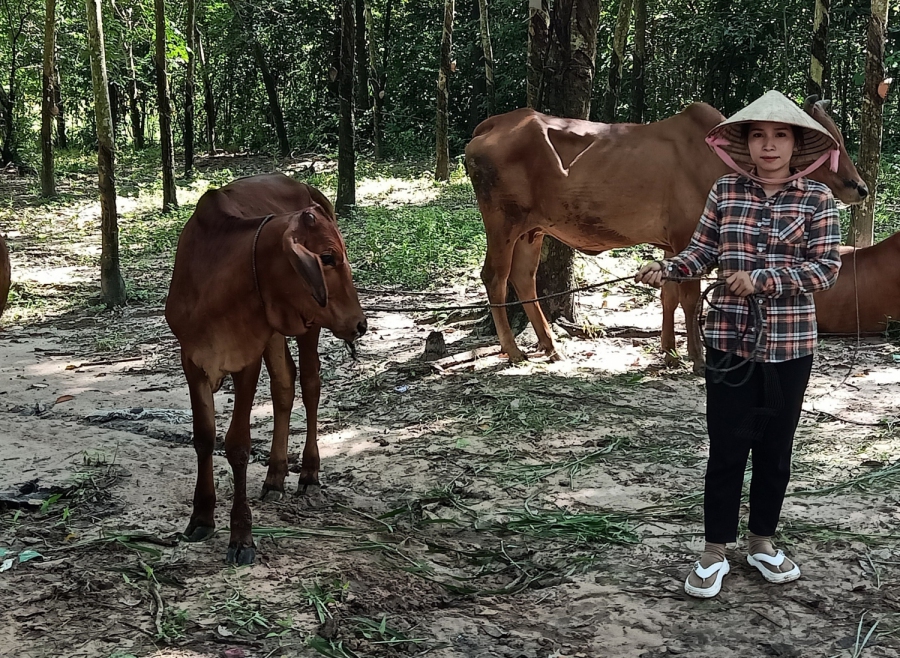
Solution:
M257 359L234 373L234 413L225 434L225 456L234 478L234 501L231 505L231 539L226 560L235 564L253 564L253 517L247 502L247 463L250 461L250 411L259 381L262 359Z

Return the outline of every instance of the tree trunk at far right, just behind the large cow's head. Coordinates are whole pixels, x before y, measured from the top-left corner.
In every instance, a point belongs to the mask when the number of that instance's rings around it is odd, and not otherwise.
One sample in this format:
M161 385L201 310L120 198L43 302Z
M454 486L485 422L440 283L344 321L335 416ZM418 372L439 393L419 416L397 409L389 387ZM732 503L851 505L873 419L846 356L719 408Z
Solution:
M875 238L875 199L881 165L881 131L884 99L884 39L888 0L872 0L872 15L866 31L866 86L863 91L857 170L869 188L868 196L853 207L853 246L868 247Z

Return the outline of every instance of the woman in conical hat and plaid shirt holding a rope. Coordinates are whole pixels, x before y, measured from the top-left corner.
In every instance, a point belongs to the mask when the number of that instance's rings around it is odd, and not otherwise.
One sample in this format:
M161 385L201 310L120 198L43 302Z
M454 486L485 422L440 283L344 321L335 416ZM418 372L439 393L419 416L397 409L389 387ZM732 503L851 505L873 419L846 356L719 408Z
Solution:
M707 142L735 173L710 190L690 245L645 264L635 277L659 287L717 264L725 280L706 320L706 547L684 585L701 598L718 594L729 571L725 545L737 541L751 451L747 561L769 582L800 577L797 564L772 546L772 535L816 346L812 293L831 287L841 265L834 198L804 177L829 158L836 164L837 144L825 128L770 91L716 126ZM761 327L753 326L743 299L751 295Z

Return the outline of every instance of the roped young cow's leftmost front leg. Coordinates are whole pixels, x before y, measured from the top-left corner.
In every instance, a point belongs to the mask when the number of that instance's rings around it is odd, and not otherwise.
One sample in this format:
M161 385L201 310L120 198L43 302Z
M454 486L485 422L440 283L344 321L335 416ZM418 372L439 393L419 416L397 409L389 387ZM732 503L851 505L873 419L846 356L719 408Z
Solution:
M216 529L216 485L212 468L212 452L216 444L216 408L212 384L206 373L185 358L183 353L181 365L191 394L194 451L197 453L194 510L184 536L188 541L202 541L209 538Z

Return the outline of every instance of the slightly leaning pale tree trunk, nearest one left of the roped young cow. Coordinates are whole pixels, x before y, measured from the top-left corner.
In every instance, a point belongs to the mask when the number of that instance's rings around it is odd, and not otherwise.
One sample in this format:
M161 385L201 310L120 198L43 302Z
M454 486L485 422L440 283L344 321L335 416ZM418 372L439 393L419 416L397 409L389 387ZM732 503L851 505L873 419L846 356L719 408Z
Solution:
M85 0L88 50L94 83L94 115L97 121L97 172L100 185L100 298L109 307L125 304L125 281L119 271L119 222L116 215L115 143L109 109L106 49L103 45L103 13L97 0Z

